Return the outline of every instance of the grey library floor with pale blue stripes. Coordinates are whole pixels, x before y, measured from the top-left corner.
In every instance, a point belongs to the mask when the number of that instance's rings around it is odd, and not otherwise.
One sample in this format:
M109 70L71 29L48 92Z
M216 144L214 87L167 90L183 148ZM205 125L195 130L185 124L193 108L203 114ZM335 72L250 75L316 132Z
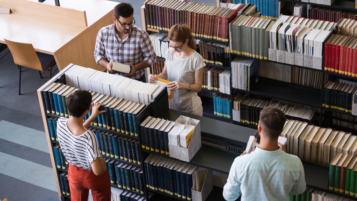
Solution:
M195 1L216 5L215 0ZM144 2L130 1L139 27ZM2 51L0 58L8 51ZM42 72L42 76L40 79L36 70L24 67L18 95L19 70L11 53L0 60L0 200L58 200L36 92L49 80L49 72Z

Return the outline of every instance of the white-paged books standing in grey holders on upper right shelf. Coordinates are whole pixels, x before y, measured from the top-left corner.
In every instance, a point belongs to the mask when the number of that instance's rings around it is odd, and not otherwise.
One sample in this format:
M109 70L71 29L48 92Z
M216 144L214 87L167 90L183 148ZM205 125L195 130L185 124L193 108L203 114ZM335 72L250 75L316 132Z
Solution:
M322 57L322 44L335 22L281 15L269 30L269 48Z

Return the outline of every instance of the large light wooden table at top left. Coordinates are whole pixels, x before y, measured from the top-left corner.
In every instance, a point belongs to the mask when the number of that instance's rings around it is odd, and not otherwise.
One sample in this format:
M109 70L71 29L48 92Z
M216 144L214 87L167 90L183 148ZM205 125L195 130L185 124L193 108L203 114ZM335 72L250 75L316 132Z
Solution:
M0 42L31 43L36 51L54 55L59 70L69 64L104 71L94 59L98 31L113 24L118 2L106 0L0 0L10 14L0 14Z

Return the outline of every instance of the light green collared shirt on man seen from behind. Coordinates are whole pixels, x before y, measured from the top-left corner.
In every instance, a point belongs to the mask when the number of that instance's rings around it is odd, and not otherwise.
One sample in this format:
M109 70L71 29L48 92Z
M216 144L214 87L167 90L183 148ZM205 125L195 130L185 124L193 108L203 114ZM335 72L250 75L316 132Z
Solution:
M238 156L229 172L223 197L234 201L289 201L289 193L302 194L306 189L304 168L294 155L265 151L258 147L254 152Z

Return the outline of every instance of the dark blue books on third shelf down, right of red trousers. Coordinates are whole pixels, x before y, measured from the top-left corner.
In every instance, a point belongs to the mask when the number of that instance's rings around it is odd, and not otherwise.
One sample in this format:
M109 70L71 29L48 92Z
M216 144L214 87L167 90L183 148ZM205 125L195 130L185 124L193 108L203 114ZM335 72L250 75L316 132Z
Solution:
M105 159L110 175L110 183L118 187L145 194L144 175L139 167Z

